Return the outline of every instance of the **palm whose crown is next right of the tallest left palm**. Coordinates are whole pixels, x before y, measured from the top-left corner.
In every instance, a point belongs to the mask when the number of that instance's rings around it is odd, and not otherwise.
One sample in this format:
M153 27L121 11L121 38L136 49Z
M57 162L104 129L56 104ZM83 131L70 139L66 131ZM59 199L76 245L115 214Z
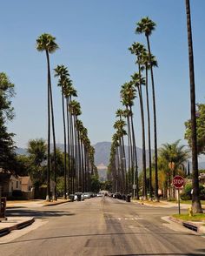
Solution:
M58 86L61 87L62 90L62 110L63 110L63 135L64 135L64 199L67 199L67 188L66 188L66 125L65 125L65 111L64 111L64 94L63 94L63 86L64 80L69 77L68 69L63 65L57 65L55 71L55 77L59 77ZM56 182L56 177L55 177Z

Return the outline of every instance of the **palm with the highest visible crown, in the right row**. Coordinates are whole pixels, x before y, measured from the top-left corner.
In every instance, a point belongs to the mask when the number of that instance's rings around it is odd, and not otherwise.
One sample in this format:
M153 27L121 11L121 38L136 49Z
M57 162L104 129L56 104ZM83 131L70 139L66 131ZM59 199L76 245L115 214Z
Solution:
M155 23L149 19L149 17L143 17L140 22L136 24L136 33L144 33L147 38L148 51L149 51L149 64L151 71L151 83L152 83L152 99L153 99L153 115L154 115L154 138L155 138L155 199L159 200L158 195L158 169L157 169L157 132L156 132L156 111L155 111L155 83L154 75L151 64L151 50L149 44L149 37L152 34L152 31L155 30Z

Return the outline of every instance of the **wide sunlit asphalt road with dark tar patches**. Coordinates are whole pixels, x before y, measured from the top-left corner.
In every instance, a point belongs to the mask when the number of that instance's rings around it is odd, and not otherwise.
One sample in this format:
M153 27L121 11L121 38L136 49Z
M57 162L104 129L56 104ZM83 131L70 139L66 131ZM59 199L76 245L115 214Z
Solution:
M110 198L10 209L36 222L0 238L0 255L205 255L205 238L161 219L174 212Z

